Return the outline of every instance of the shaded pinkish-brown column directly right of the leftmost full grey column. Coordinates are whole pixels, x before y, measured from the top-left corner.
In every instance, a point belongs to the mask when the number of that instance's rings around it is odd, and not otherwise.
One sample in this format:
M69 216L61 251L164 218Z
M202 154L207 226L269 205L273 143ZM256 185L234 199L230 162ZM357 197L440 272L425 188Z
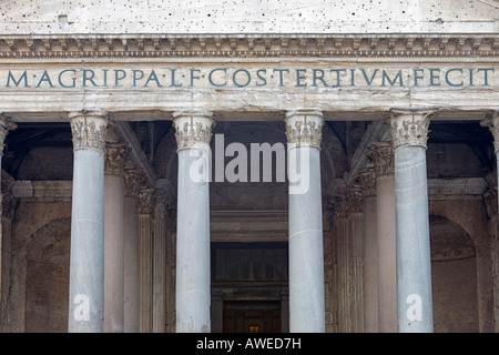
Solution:
M108 139L114 136L108 130ZM110 134L111 133L111 134ZM104 155L104 332L124 328L124 159L126 143L108 142Z

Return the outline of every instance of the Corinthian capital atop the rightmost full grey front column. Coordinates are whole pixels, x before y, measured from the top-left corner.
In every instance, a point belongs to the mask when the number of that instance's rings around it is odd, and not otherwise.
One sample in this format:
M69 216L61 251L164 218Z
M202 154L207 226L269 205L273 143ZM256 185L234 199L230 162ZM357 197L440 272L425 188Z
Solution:
M437 109L390 109L394 149L400 145L426 148L428 125Z

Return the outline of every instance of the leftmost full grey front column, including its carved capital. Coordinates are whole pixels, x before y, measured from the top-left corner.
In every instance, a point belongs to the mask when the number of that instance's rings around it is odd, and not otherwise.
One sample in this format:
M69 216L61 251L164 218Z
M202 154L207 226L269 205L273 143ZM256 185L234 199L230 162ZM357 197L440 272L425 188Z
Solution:
M106 112L69 113L74 166L68 331L103 332Z

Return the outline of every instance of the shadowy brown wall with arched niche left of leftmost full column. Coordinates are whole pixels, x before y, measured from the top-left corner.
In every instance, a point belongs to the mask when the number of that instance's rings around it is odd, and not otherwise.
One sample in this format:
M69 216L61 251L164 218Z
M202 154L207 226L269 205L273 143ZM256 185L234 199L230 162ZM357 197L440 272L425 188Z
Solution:
M67 329L71 202L57 194L50 200L19 199L12 221L8 332Z

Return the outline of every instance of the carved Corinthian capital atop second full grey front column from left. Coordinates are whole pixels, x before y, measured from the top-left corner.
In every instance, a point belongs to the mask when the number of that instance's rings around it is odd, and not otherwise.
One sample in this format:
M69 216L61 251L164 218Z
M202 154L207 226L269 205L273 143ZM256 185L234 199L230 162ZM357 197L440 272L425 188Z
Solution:
M212 129L215 120L213 112L205 110L185 110L173 113L177 148L210 149Z

